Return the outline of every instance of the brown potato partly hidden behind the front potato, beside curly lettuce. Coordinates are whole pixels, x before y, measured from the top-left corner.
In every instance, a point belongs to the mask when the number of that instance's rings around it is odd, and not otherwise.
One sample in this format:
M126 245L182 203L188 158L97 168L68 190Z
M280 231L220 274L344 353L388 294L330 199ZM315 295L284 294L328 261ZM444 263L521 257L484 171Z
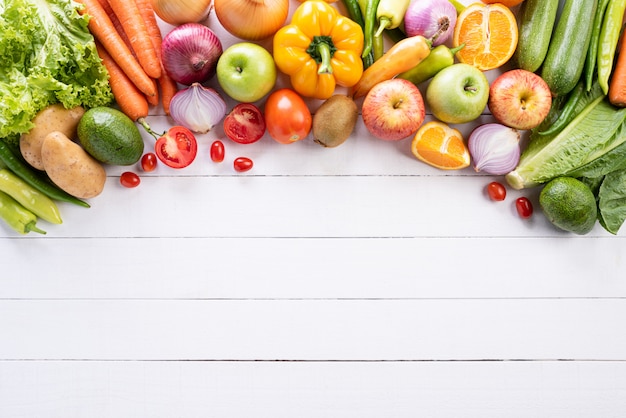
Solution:
M41 109L33 123L35 127L20 137L20 152L24 159L33 167L43 170L41 161L41 145L50 132L61 132L68 138L76 137L76 127L85 113L81 106L66 109L57 103Z

